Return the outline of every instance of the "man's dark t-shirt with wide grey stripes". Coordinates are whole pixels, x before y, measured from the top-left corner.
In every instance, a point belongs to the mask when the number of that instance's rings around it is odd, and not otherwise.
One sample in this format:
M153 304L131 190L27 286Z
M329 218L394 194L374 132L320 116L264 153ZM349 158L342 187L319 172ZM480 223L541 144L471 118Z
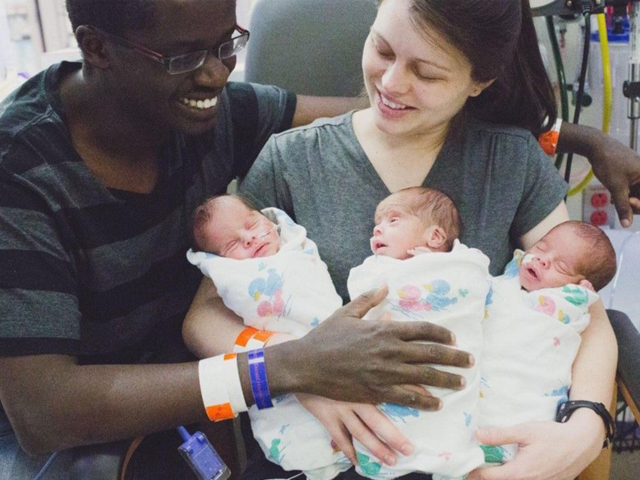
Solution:
M72 147L56 86L63 62L0 104L0 355L136 362L181 341L202 275L186 260L191 211L243 177L295 96L230 83L214 131L179 132L151 193L102 186Z

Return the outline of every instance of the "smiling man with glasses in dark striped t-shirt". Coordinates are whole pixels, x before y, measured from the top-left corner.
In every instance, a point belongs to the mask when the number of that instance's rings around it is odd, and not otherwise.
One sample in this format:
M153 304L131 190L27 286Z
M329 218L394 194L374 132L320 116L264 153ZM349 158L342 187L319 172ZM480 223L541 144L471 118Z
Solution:
M243 177L274 132L354 106L227 84L249 38L235 8L67 0L83 61L41 72L0 108L0 478L36 477L53 451L61 452L46 479L115 478L123 439L205 418L198 364L180 331L202 280L184 257L189 214ZM383 362L385 342L450 339L402 324L364 342L372 327L353 319L383 295L338 312L332 328L311 334L312 346L268 348L272 393L433 408L437 401L389 386L415 383L399 373L401 362L385 360L383 373L362 369L376 355ZM345 361L316 369L318 349ZM238 358L250 403L247 359ZM469 359L451 353L446 361ZM419 383L460 384L422 371ZM221 435L219 447L232 445L228 429ZM171 433L143 442L133 460L125 456L130 474L190 477L175 460L179 444Z

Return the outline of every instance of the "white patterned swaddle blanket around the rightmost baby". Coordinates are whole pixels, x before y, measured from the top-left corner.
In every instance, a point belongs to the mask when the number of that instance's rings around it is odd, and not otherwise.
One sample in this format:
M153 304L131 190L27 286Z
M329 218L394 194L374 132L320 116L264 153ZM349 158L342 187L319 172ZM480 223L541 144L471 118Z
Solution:
M520 288L516 250L493 278L483 322L479 428L554 420L568 399L580 332L598 294L579 285L527 292ZM484 447L487 461L510 460L516 445Z

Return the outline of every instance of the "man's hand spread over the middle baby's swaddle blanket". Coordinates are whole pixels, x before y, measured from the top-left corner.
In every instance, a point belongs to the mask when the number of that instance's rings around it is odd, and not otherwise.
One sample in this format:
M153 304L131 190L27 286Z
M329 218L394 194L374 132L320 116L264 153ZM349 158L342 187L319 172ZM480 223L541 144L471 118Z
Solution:
M428 322L362 321L386 296L387 287L367 292L300 340L269 347L266 362L273 361L273 367L267 366L269 385L272 389L277 385L276 394L279 389L342 401L391 402L437 410L440 399L405 385L463 388L462 376L425 365L473 364L469 353L445 346L455 342L449 330Z

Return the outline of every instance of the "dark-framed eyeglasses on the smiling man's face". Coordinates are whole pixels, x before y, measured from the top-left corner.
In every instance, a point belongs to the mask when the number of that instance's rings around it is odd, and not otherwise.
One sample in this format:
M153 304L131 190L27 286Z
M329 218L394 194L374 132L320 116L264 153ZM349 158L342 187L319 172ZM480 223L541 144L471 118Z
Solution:
M147 47L143 47L143 45L138 45L134 42L130 42L129 40L127 40L126 38L122 38L121 36L113 35L113 33L102 31L99 28L90 28L100 33L100 35L108 36L125 48L136 51L148 58L151 58L152 60L156 60L157 62L162 63L164 65L164 68L166 68L166 71L171 75L186 74L187 72L191 72L196 68L202 67L205 60L207 60L207 55L210 52L216 55L220 60L226 60L227 58L236 56L237 54L239 54L239 52L244 50L244 47L246 47L246 42L248 42L249 40L249 31L239 25L236 25L235 29L240 35L234 36L229 40L222 42L220 45L218 45L218 47L214 49L198 50L196 52L189 52L173 57L166 57L163 54L148 49Z

